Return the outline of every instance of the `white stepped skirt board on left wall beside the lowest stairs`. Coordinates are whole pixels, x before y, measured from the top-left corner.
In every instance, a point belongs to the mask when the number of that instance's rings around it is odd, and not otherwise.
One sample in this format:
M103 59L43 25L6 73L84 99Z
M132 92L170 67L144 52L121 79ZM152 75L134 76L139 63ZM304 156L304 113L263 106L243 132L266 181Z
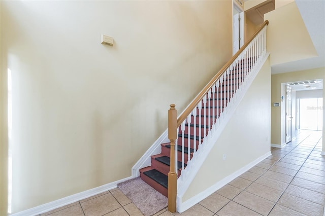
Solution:
M161 143L169 142L168 129L152 144L152 146L144 153L138 162L132 167L132 176L139 177L141 168L151 166L151 155L158 155L161 153Z

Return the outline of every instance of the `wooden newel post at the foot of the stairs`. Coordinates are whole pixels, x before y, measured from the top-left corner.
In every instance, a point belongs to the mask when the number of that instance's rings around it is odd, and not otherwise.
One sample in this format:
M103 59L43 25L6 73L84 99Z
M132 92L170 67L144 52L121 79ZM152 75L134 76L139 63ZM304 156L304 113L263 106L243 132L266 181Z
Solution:
M177 138L177 110L171 104L168 111L168 138L171 140L170 171L168 173L168 210L176 211L177 174L175 172L175 140Z

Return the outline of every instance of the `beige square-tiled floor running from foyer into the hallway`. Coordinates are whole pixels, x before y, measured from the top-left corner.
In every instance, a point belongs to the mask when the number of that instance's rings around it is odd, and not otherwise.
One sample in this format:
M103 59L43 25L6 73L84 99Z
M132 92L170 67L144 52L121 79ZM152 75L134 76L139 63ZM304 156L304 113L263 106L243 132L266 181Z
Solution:
M181 215L324 215L325 156L321 132L301 131L282 149ZM119 189L43 215L142 215ZM163 209L155 215L172 214Z

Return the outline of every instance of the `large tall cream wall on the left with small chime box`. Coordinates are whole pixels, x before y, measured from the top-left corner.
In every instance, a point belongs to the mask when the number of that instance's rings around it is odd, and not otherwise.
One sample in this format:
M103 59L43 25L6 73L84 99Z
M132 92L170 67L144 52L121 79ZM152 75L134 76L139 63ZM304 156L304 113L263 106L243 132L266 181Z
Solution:
M180 113L232 56L232 1L0 4L13 212L131 176L169 105Z

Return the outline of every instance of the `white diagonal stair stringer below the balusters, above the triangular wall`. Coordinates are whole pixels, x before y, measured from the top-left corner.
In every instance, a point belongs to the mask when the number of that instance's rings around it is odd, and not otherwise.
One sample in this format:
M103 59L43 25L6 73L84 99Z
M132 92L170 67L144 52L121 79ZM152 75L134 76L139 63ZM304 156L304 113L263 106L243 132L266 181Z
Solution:
M222 133L223 129L235 113L238 105L243 99L248 88L252 84L253 80L261 70L263 64L269 57L270 53L265 53L263 57L259 58L256 64L253 66L251 72L246 77L243 85L238 92L234 95L233 99L225 107L224 112L220 115L219 122L212 126L210 133L203 139L202 145L200 145L198 151L194 153L193 158L188 162L186 169L182 170L180 177L177 179L177 198L176 205L177 211L183 212L191 206L183 206L182 198L189 188L194 177L199 172L202 164L207 158L208 154L212 150L214 144ZM193 203L196 204L196 203Z

